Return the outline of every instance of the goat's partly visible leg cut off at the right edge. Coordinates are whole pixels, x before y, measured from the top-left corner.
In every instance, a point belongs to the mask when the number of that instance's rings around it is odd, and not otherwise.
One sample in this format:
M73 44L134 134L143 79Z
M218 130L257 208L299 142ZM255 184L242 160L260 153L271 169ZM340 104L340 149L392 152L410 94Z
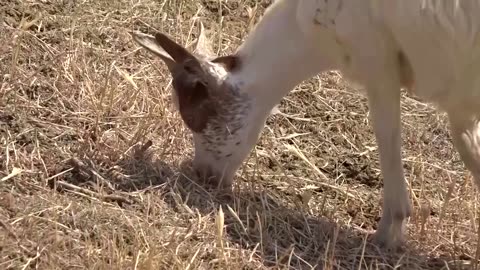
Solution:
M450 111L450 129L453 144L460 154L465 167L472 173L480 189L480 114L466 114L465 111Z

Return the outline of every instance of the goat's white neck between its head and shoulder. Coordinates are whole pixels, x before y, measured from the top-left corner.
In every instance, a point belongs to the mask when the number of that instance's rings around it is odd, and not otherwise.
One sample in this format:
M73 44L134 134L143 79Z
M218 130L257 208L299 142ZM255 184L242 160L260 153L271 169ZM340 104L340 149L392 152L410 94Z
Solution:
M255 98L259 111L270 111L297 84L326 68L299 27L296 2L275 2L237 51L242 67L233 79Z

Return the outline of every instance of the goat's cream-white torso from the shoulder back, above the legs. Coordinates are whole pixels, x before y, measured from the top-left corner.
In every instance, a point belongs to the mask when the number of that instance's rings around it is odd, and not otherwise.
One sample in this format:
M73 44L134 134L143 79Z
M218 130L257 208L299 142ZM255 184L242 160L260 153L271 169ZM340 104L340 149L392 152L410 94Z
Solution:
M325 2L298 1L297 21L307 36L317 36L334 68L365 83L376 79L369 66L392 65L401 53L412 69L415 86L409 90L415 95L445 110L480 107L480 1ZM394 77L401 70L392 72Z

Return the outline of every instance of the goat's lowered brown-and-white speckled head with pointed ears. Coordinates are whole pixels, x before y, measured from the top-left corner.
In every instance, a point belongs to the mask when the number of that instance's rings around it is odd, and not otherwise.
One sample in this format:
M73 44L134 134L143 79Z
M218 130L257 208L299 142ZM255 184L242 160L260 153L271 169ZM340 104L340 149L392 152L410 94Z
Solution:
M229 80L240 66L239 59L212 57L203 25L199 25L194 53L161 33L132 35L162 59L172 75L175 105L193 133L195 170L211 183L230 188L262 125L253 120L251 96Z

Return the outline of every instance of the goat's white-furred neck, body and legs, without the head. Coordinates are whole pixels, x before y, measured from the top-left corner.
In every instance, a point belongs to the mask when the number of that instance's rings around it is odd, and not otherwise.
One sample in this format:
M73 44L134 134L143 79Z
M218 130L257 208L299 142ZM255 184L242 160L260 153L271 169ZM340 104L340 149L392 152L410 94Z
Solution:
M241 70L225 78L253 101L241 132L243 150L225 146L235 152L227 160L231 170L255 145L270 110L293 87L339 69L362 83L369 99L384 177L376 239L391 247L401 243L411 207L401 160L404 85L398 55L413 71L410 90L448 113L455 146L480 184L478 14L479 0L275 1L237 51Z

